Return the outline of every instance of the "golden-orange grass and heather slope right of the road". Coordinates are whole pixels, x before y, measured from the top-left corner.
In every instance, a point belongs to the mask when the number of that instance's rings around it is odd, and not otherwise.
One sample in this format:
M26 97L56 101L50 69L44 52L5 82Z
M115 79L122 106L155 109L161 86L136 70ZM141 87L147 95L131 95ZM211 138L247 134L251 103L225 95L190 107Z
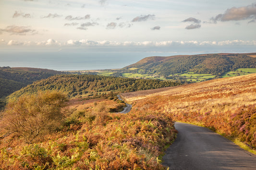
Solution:
M136 111L206 126L256 149L256 74L121 95Z

